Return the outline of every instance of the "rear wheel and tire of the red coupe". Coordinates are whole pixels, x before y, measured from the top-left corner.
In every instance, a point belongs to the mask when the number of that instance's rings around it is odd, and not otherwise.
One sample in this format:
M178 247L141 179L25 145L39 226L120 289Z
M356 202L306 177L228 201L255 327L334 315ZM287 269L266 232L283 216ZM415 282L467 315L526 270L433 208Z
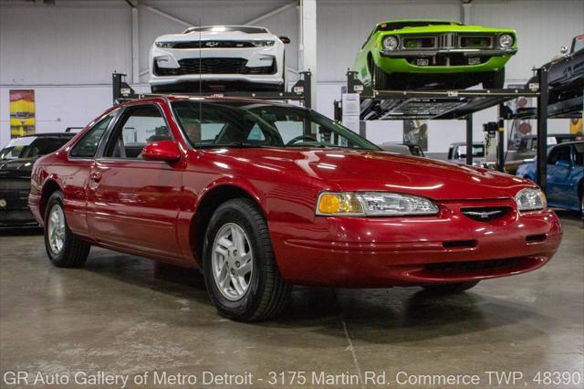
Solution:
M75 237L68 227L63 210L63 193L48 198L45 210L45 247L48 258L57 268L78 268L89 255L91 245Z

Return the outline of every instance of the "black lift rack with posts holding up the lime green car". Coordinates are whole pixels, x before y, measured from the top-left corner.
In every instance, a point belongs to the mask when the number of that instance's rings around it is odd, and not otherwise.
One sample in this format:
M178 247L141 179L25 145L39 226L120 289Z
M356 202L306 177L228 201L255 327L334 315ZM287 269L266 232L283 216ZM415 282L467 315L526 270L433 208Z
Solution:
M497 155L504 156L504 119L537 119L537 184L545 191L547 184L547 119L581 116L582 100L547 105L547 68L537 69L537 83L528 89L463 89L463 90L375 90L347 72L347 93L360 94L360 120L464 120L466 147L472 150L473 113L499 106ZM510 112L504 103L518 97L537 98L537 109ZM340 102L335 101L335 119L342 120ZM473 153L466 153L466 163L473 164ZM497 170L503 171L504 157L497 157Z

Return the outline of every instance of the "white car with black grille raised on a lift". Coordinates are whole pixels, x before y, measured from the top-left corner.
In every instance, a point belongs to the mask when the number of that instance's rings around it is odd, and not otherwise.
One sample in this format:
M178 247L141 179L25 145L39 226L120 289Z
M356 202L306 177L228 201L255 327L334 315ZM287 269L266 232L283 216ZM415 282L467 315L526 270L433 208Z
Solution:
M284 90L284 45L259 26L200 26L157 37L150 50L152 92Z

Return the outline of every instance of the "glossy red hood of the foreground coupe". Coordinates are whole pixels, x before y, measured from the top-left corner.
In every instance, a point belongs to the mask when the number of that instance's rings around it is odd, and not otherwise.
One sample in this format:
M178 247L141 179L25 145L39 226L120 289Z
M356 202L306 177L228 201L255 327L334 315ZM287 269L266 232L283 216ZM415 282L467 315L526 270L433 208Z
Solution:
M230 166L249 171L249 163L307 177L324 190L389 191L435 200L509 198L533 183L482 168L459 166L392 152L340 149L230 149L217 152ZM242 173L243 173L242 172Z

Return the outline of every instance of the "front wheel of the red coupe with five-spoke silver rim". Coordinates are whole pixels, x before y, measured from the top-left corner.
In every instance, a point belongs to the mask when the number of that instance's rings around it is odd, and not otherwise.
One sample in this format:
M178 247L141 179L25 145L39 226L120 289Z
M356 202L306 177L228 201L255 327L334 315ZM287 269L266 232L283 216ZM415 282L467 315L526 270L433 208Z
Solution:
M280 276L266 219L252 201L229 200L214 212L204 240L203 275L226 318L263 321L284 309L290 285Z

